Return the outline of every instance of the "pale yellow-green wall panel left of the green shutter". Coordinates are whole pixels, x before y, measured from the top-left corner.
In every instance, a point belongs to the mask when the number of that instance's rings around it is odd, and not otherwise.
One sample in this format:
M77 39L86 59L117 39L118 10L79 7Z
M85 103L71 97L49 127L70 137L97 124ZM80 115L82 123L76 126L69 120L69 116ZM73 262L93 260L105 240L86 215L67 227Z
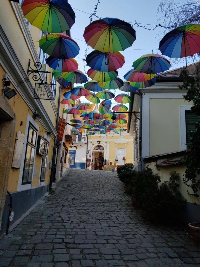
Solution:
M180 151L180 106L191 106L183 98L150 98L150 156ZM170 120L169 120L170 118Z

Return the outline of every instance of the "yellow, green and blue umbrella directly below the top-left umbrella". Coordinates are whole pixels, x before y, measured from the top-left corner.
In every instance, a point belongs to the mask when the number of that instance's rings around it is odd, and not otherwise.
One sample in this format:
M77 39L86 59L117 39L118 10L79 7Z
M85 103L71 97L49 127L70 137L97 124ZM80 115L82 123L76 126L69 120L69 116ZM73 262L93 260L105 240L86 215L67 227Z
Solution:
M47 38L42 36L39 46L44 53L59 59L74 58L80 50L78 44L71 37L61 33L47 34Z

